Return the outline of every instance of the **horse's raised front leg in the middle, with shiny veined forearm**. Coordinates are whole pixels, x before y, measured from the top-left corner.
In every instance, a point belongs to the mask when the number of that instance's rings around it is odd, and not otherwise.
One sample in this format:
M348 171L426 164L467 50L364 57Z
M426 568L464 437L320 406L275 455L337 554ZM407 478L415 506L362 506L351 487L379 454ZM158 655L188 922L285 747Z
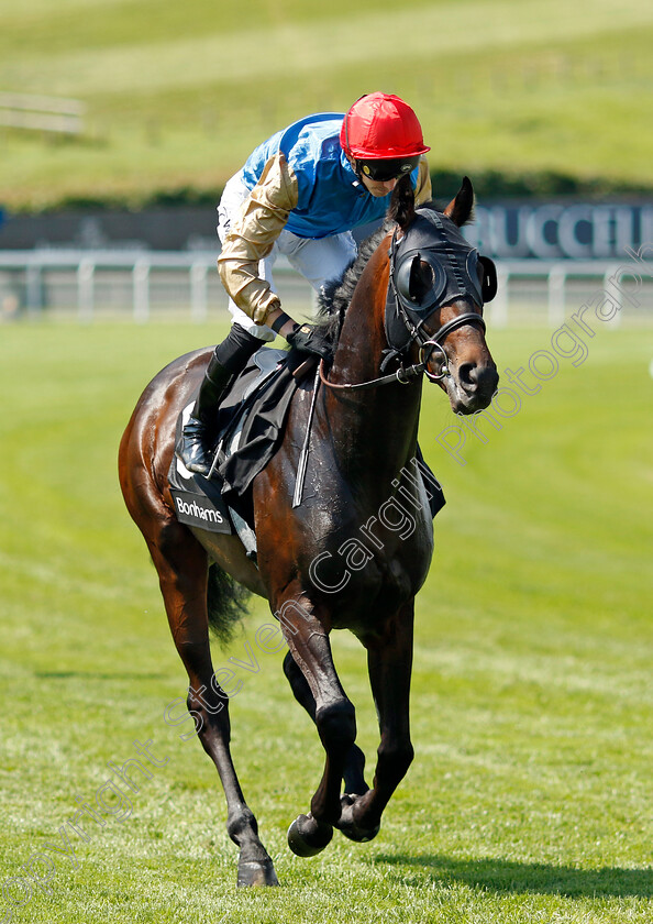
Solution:
M281 625L312 694L313 717L326 758L310 812L292 822L288 844L298 856L311 857L326 847L341 816L341 782L356 738L356 717L333 666L326 620L320 618L306 597L300 600L301 603L287 601L281 606Z

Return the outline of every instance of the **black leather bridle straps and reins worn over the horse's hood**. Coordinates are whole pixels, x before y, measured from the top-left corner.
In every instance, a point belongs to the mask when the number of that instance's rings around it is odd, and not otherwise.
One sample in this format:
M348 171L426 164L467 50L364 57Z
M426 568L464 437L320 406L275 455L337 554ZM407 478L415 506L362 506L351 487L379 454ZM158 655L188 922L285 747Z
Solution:
M457 315L455 318L446 321L444 324L440 327L435 333L430 334L428 331L423 330L423 326L428 318L434 314L435 310L443 304L444 300L451 301L452 298L449 297L450 290L452 289L452 285L449 285L449 277L452 277L453 289L457 289L454 297L469 297L474 295L476 299L478 299L479 289L476 288L474 293L469 292L469 285L467 280L464 278L465 275L468 276L466 273L461 272L458 254L456 253L458 248L454 248L447 244L447 238L445 234L444 224L440 219L438 212L429 210L428 220L431 224L435 226L439 233L439 241L438 245L430 245L421 244L419 246L414 245L408 248L405 253L398 255L398 250L401 244L408 241L409 235L406 235L398 241L397 234L398 230L396 229L392 234L392 241L390 244L389 257L390 257L390 279L388 283L388 296L386 301L386 329L387 329L387 317L389 308L395 310L396 316L401 319L406 327L406 332L408 337L400 346L395 346L388 351L384 362L381 363L381 372L387 365L387 363L392 360L400 358L401 360L405 359L406 354L410 351L413 344L418 344L419 346L419 358L418 362L410 366L405 366L403 363L399 366L398 370L390 373L389 375L381 375L378 378L369 380L368 382L358 382L358 383L345 383L345 384L336 384L333 382L329 382L326 376L324 375L324 360L320 361L320 381L322 384L329 386L330 388L336 389L344 389L347 392L361 392L366 388L377 388L380 385L389 385L395 382L399 382L401 385L408 385L410 382L413 382L416 378L419 378L421 375L425 375L431 382L440 382L446 376L451 375L449 371L449 358L442 345L442 341L444 341L445 337L450 334L452 331L457 330L458 328L466 327L467 324L476 324L485 333L486 323L483 319L482 315L478 315L476 311L465 311L462 315ZM411 242L412 243L412 242ZM419 242L418 242L419 243ZM439 252L444 250L444 256L447 258L447 268L444 270L442 266L443 261L439 256ZM467 249L467 251L475 252L474 249ZM424 317L420 317L422 311L419 310L419 306L411 304L411 298L406 289L406 286L402 286L401 279L398 282L398 275L401 273L402 266L406 264L410 257L418 258L425 258L429 265L432 268L440 267L441 275L434 276L433 286L431 287L430 294L433 296L431 300L428 302L427 308L429 309L428 315ZM399 265L398 265L399 261ZM406 275L406 274L403 274ZM483 297L480 296L480 304L483 304ZM416 310L417 307L417 310ZM406 337L405 332L405 337ZM434 351L440 351L442 354L442 366L439 373L430 372L429 370L429 362Z

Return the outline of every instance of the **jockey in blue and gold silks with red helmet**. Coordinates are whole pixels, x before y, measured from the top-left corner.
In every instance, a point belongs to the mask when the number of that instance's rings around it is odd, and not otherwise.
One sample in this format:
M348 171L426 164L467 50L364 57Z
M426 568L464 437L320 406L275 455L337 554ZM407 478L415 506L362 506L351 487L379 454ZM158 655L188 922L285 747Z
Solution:
M218 271L232 328L209 361L177 454L208 474L211 421L232 376L280 334L300 352L329 358L317 330L296 323L273 287L288 257L316 290L340 278L356 255L352 228L380 220L397 180L410 173L416 202L431 198L422 130L399 97L375 92L345 113L309 116L261 144L224 187L218 208Z

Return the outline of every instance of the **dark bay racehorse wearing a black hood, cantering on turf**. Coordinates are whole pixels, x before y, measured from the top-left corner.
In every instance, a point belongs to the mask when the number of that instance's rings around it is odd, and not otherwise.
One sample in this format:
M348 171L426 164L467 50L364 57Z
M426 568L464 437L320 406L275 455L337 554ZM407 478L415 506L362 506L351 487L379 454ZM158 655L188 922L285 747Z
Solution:
M325 750L310 812L290 825L291 849L299 856L319 853L333 827L353 840L372 839L413 757L413 603L433 551L423 484L411 470L423 374L440 384L461 414L487 407L498 383L482 316L483 301L496 290L496 274L458 231L473 198L465 178L444 211L416 211L410 183L396 187L390 230L362 250L335 295L331 327L337 342L331 369L321 370L325 384L312 405L302 501L292 506L312 382L298 387L283 443L254 481L257 565L236 536L179 524L167 483L176 420L212 348L163 370L143 393L122 438L122 491L158 572L190 682L188 708L224 788L228 832L240 848L240 886L274 886L277 878L230 754L229 700L213 675L209 648L209 568L269 602L289 648L286 676ZM381 365L380 377L391 376L391 382L378 383ZM355 745L354 706L340 683L329 640L332 629L345 628L367 650L379 719L372 788Z

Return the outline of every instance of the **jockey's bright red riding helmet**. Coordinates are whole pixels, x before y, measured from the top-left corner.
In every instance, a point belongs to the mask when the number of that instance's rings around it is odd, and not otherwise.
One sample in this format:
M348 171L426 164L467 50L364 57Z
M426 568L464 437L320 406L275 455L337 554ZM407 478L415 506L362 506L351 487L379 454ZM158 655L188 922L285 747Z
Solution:
M366 94L343 119L340 143L350 157L365 161L419 157L430 151L422 127L407 102L389 94Z

